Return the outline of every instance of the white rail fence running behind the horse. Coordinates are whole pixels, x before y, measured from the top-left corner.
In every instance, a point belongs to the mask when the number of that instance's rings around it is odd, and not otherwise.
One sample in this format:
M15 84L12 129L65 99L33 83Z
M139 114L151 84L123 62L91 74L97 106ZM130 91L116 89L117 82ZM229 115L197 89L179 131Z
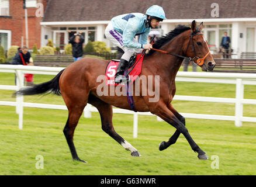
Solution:
M63 70L63 68L24 65L0 65L0 72L16 73L17 75L16 86L0 85L0 89L16 91L22 88L24 86L24 74L26 73L56 75L61 70ZM236 98L215 98L184 95L174 96L174 100L181 101L235 103L235 116L181 113L182 116L195 119L230 120L234 121L236 126L242 126L243 122L256 122L256 117L243 116L243 104L256 105L256 99L244 99L244 85L256 85L256 74L235 74L219 72L178 72L176 81L236 84ZM67 107L65 105L26 103L23 102L23 96L16 98L16 102L0 101L0 105L16 106L16 113L19 114L19 129L22 129L23 126L23 107L67 110ZM98 110L92 107L91 105L87 105L87 107L85 107L84 109L84 117L91 117L91 112L98 112ZM153 116L153 114L151 114L150 112L133 112L131 110L125 109L113 109L113 113L125 113L134 115L134 138L137 137L138 115ZM159 117L157 117L157 119L161 120Z

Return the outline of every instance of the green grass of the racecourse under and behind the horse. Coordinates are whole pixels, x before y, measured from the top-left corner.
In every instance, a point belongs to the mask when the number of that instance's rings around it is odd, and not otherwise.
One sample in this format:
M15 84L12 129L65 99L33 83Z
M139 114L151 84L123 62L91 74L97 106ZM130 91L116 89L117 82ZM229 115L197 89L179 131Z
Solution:
M34 75L34 82L49 81L54 76ZM0 73L0 85L14 85L14 75ZM245 86L247 99L256 99L256 86ZM234 98L234 85L177 82L177 95ZM13 91L0 90L0 101L15 101ZM61 96L26 96L25 102L64 105ZM224 103L173 101L182 113L234 115L234 105ZM186 127L209 160L198 160L184 136L167 150L159 151L174 127L158 122L153 116L139 116L138 138L133 138L133 116L113 115L117 133L139 150L142 157L132 157L101 129L99 113L91 119L81 117L74 143L84 164L72 161L63 134L67 110L24 108L23 130L18 129L18 115L12 106L0 106L0 175L256 175L256 123L221 120L186 119ZM244 116L256 117L255 105L244 105ZM44 169L36 169L36 156L44 158ZM219 169L211 168L219 157Z

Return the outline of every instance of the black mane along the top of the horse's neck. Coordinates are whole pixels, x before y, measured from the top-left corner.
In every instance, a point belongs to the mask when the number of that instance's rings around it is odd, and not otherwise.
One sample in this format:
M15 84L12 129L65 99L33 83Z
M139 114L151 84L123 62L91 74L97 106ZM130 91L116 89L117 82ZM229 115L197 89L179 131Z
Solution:
M168 41L171 41L172 39L174 39L174 37L178 36L179 34L189 29L191 29L191 27L187 27L185 25L178 25L174 30L171 30L165 36L160 37L160 39L158 39L155 42L155 44L153 44L153 48L160 49L160 47L162 47L165 43L167 43ZM154 50L150 50L147 56L150 56L152 53L154 53Z

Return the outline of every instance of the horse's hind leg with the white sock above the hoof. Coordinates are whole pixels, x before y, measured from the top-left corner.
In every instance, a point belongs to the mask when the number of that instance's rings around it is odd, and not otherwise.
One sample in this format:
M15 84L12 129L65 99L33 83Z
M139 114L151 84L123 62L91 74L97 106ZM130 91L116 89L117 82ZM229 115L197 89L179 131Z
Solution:
M88 103L91 103L98 109L99 114L101 115L102 130L109 134L109 136L116 140L119 144L121 144L121 146L123 146L127 151L131 151L131 155L133 157L140 157L141 155L139 151L116 133L112 123L112 105L101 101L101 99L94 95L89 96Z

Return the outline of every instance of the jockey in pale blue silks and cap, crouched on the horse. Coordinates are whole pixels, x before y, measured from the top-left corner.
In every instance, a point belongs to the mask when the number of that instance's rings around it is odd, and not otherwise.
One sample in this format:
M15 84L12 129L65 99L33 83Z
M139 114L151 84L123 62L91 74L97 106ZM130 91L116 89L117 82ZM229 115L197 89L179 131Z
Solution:
M156 28L165 18L164 9L153 5L143 13L127 13L111 19L106 27L106 38L120 47L124 54L120 59L115 76L115 83L126 81L124 70L134 53L142 53L143 49L150 50L152 45L148 43L148 33L151 28ZM139 43L134 39L140 35Z

